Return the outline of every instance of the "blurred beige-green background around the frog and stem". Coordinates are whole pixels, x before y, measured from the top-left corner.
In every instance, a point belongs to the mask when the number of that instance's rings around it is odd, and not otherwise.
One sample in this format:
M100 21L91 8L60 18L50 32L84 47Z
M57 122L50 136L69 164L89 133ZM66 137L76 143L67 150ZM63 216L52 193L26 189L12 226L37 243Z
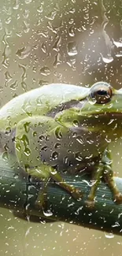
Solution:
M122 87L120 0L1 0L0 106L45 83ZM122 176L121 140L113 169ZM121 236L63 222L22 221L0 209L0 255L122 255Z

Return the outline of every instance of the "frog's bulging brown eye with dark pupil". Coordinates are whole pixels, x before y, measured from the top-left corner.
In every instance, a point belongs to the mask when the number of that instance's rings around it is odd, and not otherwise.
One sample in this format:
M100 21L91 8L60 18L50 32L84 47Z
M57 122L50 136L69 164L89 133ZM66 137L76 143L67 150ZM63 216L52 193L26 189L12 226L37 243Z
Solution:
M109 83L98 82L91 87L90 97L98 104L109 102L112 95L113 90Z

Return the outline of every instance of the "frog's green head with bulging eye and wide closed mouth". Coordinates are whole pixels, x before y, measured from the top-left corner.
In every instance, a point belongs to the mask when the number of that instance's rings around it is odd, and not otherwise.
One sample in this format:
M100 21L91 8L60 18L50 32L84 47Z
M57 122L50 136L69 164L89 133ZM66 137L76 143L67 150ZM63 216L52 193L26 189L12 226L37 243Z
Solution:
M82 98L79 109L79 123L89 130L104 131L109 135L122 133L122 91L109 83L98 82Z

